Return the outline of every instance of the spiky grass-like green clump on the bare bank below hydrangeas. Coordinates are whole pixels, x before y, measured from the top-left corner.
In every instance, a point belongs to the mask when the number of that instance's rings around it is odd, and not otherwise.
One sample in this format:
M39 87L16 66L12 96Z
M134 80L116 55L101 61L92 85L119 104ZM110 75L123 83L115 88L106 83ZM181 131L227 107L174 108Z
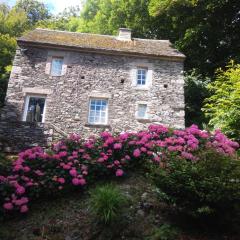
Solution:
M110 224L120 216L126 198L117 186L99 186L91 192L91 210L99 222Z

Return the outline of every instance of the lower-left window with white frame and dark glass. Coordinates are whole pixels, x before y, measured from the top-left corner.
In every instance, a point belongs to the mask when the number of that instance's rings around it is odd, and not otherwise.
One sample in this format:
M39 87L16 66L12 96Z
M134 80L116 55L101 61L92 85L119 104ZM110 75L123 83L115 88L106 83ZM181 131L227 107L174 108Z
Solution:
M23 121L41 122L45 120L46 97L27 95L24 106Z

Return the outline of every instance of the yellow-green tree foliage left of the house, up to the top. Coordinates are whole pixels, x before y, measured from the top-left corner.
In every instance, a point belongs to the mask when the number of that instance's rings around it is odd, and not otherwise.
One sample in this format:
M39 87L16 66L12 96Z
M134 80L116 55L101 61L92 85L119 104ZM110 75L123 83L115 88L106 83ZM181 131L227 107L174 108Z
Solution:
M0 107L7 90L16 38L49 16L48 9L37 0L19 0L13 8L0 4Z

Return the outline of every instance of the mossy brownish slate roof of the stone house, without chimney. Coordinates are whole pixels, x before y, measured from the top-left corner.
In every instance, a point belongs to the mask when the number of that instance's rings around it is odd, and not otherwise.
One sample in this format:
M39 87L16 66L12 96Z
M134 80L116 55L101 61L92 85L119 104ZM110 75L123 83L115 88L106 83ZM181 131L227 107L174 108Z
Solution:
M18 44L45 45L59 48L75 48L114 54L144 55L184 60L185 56L172 47L168 40L133 38L118 40L116 36L76 33L48 29L35 29L18 39Z

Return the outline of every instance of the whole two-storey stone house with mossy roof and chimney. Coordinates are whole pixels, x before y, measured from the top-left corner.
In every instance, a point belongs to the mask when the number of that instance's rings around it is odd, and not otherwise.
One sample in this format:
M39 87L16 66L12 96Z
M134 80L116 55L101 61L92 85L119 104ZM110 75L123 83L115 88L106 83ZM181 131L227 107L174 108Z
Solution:
M124 28L118 36L36 29L17 43L0 119L4 147L184 127L185 56L168 40L132 38Z

